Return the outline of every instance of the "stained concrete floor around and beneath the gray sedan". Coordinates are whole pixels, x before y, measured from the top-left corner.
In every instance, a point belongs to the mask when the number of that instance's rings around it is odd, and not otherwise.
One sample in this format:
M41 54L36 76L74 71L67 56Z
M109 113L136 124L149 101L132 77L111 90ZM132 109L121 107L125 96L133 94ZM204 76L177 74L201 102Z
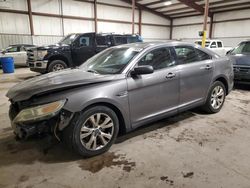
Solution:
M250 88L235 89L218 114L188 111L82 159L62 144L14 140L4 95L33 75L0 74L0 187L250 187Z

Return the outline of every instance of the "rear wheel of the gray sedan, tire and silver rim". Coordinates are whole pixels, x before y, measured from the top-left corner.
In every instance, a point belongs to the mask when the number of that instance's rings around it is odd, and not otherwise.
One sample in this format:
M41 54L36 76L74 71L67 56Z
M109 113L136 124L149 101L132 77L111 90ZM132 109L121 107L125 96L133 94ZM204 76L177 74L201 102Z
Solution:
M207 97L206 104L203 109L210 114L217 113L221 110L226 98L226 88L225 85L216 81L213 83Z

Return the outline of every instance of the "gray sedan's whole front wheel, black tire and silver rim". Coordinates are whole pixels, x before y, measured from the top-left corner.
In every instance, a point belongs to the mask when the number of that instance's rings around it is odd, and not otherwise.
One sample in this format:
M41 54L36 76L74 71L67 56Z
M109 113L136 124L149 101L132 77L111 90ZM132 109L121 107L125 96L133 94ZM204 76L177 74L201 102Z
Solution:
M106 106L94 106L81 112L63 131L67 145L84 157L106 152L119 132L116 113Z

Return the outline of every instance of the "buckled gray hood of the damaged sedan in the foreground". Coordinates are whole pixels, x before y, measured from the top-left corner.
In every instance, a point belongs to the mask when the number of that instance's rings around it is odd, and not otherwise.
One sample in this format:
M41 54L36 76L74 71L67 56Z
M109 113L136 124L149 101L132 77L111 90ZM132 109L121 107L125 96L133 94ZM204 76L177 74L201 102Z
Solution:
M27 100L37 94L58 89L108 82L116 79L119 79L119 76L99 75L82 69L67 69L23 81L12 87L6 96L17 102Z

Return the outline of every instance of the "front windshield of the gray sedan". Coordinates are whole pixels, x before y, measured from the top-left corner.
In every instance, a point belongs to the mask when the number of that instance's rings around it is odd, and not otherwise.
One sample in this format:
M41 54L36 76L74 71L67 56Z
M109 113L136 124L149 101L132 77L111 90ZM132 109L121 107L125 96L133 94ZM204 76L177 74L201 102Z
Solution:
M89 59L80 68L97 74L119 74L139 53L129 47L109 48Z

